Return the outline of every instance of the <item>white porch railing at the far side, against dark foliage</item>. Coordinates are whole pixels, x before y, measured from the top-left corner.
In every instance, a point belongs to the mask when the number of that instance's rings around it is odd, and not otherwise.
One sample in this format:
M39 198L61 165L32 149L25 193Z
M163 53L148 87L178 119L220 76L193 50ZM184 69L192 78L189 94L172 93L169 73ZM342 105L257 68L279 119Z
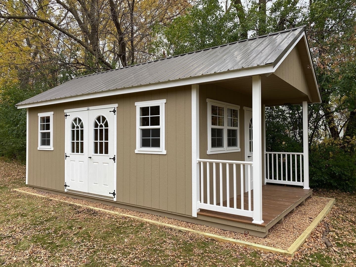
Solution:
M266 182L304 185L303 153L265 152Z

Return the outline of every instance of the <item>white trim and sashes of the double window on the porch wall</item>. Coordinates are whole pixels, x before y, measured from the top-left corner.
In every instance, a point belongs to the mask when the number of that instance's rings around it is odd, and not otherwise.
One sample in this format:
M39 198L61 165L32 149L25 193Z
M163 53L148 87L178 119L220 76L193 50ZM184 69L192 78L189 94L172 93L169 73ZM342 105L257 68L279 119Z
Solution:
M231 153L231 152L240 152L240 106L213 100L206 98L208 102L208 150L206 154L221 154L221 153ZM224 126L214 126L214 128L225 129L224 130L224 147L222 148L211 148L211 105L224 107ZM237 148L236 147L227 147L227 129L236 129L235 127L227 127L227 108L232 108L237 110Z

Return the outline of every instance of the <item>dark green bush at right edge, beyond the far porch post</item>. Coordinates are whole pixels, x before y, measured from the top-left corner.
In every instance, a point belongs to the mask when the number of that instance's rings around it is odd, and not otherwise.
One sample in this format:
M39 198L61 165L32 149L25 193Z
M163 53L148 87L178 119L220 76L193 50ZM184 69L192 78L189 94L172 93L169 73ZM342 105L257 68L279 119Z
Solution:
M310 147L311 188L356 191L356 140L329 139Z

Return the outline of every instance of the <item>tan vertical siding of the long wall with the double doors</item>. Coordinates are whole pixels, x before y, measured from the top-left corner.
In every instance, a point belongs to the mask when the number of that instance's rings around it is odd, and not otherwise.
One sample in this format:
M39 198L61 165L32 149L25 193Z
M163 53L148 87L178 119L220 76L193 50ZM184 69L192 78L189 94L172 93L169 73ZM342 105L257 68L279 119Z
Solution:
M29 108L28 185L64 191L64 110L117 103L117 201L192 215L192 87ZM136 154L137 101L166 99L166 155ZM37 150L38 113L53 111L53 151ZM67 119L70 119L68 117Z

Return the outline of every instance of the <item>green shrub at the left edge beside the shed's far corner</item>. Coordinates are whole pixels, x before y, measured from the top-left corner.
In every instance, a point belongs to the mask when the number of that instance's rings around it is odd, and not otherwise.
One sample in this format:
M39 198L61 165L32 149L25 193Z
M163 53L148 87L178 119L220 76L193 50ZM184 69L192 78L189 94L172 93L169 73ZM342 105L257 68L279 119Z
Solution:
M26 161L26 110L18 110L15 104L39 93L19 86L0 91L0 156Z

